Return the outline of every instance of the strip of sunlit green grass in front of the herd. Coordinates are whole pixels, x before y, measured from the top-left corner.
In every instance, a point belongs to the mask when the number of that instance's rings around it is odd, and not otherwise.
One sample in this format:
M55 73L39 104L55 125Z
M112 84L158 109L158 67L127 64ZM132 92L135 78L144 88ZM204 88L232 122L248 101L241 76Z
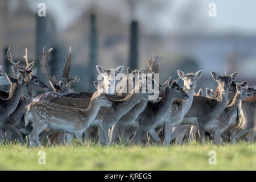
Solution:
M46 164L39 165L39 151ZM208 155L216 152L216 165ZM256 144L240 142L215 146L196 142L181 146L133 146L73 144L35 147L17 144L0 146L1 170L256 170Z

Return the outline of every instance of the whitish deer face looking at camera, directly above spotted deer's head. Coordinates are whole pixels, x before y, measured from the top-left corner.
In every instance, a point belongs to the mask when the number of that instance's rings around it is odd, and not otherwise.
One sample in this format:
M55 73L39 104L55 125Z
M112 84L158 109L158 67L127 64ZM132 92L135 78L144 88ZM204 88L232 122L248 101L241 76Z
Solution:
M98 73L100 73L101 76L104 77L104 86L105 86L105 93L113 92L115 91L115 77L117 74L121 73L123 71L123 66L118 67L117 69L104 69L100 65L96 65ZM112 91L109 91L110 90ZM111 94L111 93L109 93Z

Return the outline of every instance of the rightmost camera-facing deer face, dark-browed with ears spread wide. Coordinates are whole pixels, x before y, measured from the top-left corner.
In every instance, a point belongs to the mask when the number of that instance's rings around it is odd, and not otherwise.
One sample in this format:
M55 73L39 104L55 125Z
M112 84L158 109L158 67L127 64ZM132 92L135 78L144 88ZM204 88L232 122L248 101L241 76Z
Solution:
M218 82L218 90L222 93L228 93L230 84L232 81L236 80L238 72L232 73L230 76L227 75L221 75L219 76L215 72L211 72L213 80L216 80Z

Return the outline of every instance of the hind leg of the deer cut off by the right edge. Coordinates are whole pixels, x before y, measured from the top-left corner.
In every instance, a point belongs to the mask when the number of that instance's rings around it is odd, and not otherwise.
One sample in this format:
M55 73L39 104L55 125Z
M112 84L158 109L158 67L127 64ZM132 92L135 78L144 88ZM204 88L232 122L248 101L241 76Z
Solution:
M239 139L243 134L253 129L253 118L243 118L243 121L243 125L232 133L232 143L236 143L236 140Z

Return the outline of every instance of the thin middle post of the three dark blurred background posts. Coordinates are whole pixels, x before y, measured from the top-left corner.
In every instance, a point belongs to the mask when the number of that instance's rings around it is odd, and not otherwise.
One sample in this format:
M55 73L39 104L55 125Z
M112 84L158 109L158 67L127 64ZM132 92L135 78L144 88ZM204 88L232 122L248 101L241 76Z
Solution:
M90 15L90 52L89 52L89 79L90 90L93 90L93 81L95 79L96 64L97 64L97 28L96 28L96 15Z

